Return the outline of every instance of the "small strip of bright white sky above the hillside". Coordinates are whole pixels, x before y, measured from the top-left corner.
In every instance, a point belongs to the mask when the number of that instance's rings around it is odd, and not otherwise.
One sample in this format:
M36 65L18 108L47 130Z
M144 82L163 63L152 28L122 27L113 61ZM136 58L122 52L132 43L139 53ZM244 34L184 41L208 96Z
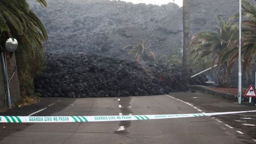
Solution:
M182 6L182 3L183 3L183 0L121 0L121 1L132 2L134 4L145 3L145 4L157 4L157 5L167 4L174 1L174 3L178 4L179 6Z

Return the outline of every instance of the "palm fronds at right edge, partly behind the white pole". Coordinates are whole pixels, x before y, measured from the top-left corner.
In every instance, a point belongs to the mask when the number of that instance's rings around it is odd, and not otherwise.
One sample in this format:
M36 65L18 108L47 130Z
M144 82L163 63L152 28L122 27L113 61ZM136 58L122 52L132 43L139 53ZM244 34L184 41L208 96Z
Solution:
M242 62L245 74L247 68L251 66L256 53L256 8L249 2L242 1L242 15L246 19L242 22ZM233 18L238 18L235 14ZM238 38L230 40L228 49L221 53L220 62L229 62L228 70L230 71L233 63L238 59Z

